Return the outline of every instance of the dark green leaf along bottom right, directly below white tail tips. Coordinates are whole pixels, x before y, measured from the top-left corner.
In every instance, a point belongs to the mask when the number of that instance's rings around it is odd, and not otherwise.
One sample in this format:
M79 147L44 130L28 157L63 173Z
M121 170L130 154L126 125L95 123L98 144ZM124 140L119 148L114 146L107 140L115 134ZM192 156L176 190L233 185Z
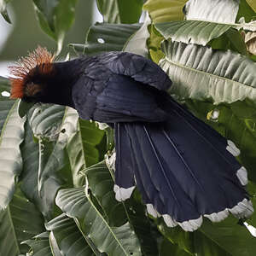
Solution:
M192 255L248 256L255 252L255 237L232 216L215 224L204 219L201 228L194 233L186 233L179 227L167 228L163 222L159 229L167 239Z

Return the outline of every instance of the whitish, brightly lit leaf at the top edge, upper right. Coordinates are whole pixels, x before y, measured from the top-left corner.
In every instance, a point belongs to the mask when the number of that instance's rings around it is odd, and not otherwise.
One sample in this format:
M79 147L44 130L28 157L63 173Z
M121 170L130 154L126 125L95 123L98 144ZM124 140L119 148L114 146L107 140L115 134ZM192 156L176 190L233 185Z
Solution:
M184 13L187 20L209 20L222 23L235 23L239 0L189 0Z

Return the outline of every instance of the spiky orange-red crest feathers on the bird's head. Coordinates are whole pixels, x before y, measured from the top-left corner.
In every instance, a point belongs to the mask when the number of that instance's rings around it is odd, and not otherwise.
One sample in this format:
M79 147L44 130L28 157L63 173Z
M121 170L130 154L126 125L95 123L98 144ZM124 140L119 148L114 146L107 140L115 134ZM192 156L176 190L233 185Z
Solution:
M35 72L43 75L51 73L54 60L55 55L52 55L46 48L38 46L28 56L21 58L16 66L9 67L12 75L10 78L11 98L22 98L25 94L26 96L32 96L36 93L38 86L29 86L29 84L26 84L27 81Z

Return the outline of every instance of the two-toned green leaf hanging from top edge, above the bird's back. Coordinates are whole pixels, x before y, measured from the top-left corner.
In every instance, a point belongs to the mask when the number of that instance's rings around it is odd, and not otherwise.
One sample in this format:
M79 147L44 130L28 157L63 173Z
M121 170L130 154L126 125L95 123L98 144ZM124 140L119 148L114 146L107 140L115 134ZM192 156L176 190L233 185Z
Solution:
M137 23L143 8L143 0L97 0L105 23Z

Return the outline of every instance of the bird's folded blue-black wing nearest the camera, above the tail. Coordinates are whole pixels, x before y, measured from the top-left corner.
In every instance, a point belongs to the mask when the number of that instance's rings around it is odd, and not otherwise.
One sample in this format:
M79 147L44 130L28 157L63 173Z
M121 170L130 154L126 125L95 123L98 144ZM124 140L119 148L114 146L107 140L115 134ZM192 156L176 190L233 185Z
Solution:
M74 85L73 102L82 119L158 122L166 119L166 113L158 106L157 92L131 77L98 69L98 76L84 76Z

